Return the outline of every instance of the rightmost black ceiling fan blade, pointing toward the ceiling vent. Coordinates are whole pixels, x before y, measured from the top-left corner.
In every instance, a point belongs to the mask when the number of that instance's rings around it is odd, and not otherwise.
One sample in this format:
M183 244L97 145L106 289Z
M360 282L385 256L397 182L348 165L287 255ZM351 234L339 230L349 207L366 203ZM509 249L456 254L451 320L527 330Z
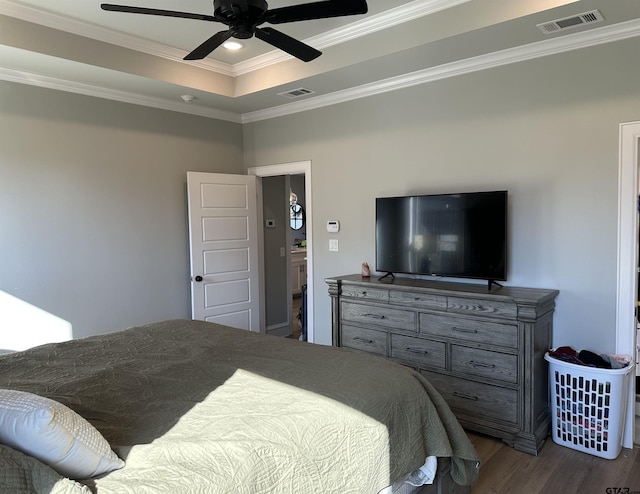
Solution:
M265 20L270 24L282 24L285 22L366 14L368 10L366 0L325 0L271 9L265 13Z

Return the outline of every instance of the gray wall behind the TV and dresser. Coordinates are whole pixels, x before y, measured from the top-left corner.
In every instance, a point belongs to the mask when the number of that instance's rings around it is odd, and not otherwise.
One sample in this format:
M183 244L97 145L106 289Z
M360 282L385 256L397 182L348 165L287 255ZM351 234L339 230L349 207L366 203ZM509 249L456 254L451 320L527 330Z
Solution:
M640 120L638 53L635 38L245 125L247 166L312 161L316 341L331 341L324 278L374 266L376 196L508 189L508 284L560 290L555 345L613 351L618 134Z

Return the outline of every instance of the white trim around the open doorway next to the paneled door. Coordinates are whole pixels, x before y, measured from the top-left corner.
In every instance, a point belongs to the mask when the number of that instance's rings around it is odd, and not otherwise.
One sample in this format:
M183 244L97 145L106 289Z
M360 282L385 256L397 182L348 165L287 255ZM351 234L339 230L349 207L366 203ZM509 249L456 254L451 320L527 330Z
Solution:
M255 175L256 177L273 177L278 175L304 175L304 195L305 195L305 210L306 224L307 224L307 341L314 342L314 327L313 327L313 207L311 197L311 161L296 161L292 163L280 163L275 165L265 166L253 166L247 170L249 175ZM262 216L260 201L258 201L258 221ZM264 247L262 247L264 248ZM260 256L260 273L264 273L264 258ZM264 280L264 276L261 277ZM264 281L263 281L264 287ZM264 290L260 291L261 295L261 307L264 308ZM264 316L264 310L261 309L262 316ZM264 317L262 318L264 321Z

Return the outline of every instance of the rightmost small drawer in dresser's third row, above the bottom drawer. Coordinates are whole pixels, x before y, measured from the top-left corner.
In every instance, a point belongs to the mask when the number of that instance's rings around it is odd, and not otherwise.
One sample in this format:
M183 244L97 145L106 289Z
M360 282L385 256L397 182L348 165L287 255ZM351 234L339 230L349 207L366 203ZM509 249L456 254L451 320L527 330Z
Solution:
M518 356L451 345L451 370L506 383L518 383Z

